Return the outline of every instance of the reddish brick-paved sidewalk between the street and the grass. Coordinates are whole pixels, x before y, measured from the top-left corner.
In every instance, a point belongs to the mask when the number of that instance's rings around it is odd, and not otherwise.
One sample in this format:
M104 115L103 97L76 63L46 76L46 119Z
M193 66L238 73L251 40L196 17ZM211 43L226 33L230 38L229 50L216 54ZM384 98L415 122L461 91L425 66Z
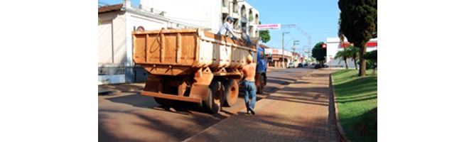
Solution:
M185 141L339 141L328 113L329 71L313 70Z

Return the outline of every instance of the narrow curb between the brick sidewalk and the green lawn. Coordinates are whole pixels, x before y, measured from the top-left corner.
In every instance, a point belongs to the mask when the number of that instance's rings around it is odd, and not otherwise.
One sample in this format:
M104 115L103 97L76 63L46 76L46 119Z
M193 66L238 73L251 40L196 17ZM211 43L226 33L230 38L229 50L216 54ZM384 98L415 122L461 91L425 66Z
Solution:
M333 113L333 114L335 116L335 128L338 130L337 134L340 137L340 141L350 142L350 140L345 135L345 131L343 130L342 126L340 125L339 109L337 107L337 97L335 97L334 81L332 80L332 74L329 74L329 86L331 88L330 95L331 95L331 97L333 97L333 101L334 101L334 111L335 111L335 113Z

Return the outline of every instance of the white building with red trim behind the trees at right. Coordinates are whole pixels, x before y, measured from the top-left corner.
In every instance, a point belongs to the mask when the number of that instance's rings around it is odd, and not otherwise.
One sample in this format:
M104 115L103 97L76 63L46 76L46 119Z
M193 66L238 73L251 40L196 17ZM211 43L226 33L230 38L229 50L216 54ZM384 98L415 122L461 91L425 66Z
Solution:
M347 47L350 43L348 43L347 38L344 39L344 44L340 44L340 38L326 38L326 44L327 44L327 58L326 62L329 65L332 66L342 66L345 67L345 62L339 60L335 60L335 54L338 53L340 50L344 50L344 47ZM370 52L372 50L377 50L378 49L378 38L372 38L370 41L367 43L367 52ZM332 59L332 60L331 60ZM353 63L353 60L349 59L347 60L348 62L348 67L355 67L355 64Z

